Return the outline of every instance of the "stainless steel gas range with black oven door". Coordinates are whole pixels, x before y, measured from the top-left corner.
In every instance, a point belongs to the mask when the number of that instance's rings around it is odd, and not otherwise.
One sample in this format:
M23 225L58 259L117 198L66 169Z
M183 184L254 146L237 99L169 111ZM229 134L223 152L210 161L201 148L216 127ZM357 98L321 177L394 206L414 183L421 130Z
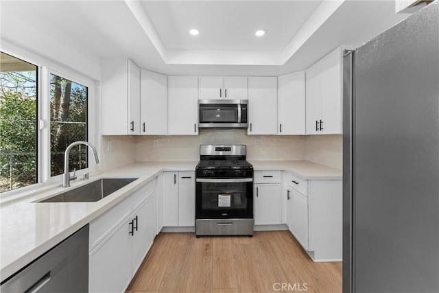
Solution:
M253 166L246 145L200 145L195 235L253 235Z

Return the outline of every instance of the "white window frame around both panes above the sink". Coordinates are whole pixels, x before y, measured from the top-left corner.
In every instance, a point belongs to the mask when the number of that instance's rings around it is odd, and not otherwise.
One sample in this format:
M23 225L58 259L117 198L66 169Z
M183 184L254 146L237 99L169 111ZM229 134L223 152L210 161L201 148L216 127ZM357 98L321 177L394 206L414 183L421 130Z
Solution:
M88 78L85 74L74 71L69 67L60 65L54 60L40 56L22 47L12 46L11 49L0 47L0 51L14 58L21 59L36 66L37 75L37 183L25 187L12 189L2 192L0 198L15 196L18 194L29 194L35 189L43 187L45 183L59 183L62 185L62 174L51 176L50 174L50 73L66 78L72 82L82 84L88 88L87 95L87 141L95 145L98 156L100 157L100 145L97 139L97 126L99 125L99 115L96 112L97 84L95 80ZM78 178L84 173L95 172L97 170L93 157L93 152L88 151L88 167L76 172Z

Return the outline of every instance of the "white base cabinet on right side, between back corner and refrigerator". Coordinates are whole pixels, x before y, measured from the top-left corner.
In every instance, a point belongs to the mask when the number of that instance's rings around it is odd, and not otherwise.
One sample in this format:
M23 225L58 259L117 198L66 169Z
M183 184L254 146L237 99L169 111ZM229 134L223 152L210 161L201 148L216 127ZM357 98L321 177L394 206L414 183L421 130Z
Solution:
M342 180L303 180L287 172L286 222L313 261L342 260Z

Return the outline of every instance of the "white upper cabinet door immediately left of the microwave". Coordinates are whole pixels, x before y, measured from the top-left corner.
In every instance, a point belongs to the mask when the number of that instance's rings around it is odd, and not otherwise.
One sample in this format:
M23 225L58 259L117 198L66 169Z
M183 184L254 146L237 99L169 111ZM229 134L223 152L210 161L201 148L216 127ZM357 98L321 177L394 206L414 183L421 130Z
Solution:
M198 78L169 76L169 134L198 134Z

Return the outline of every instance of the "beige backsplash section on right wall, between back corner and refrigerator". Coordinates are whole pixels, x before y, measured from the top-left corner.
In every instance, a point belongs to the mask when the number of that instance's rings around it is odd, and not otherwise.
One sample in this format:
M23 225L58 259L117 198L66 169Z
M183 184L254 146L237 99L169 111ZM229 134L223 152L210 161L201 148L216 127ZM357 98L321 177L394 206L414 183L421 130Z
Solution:
M307 161L337 169L343 167L342 135L310 135L305 141Z

